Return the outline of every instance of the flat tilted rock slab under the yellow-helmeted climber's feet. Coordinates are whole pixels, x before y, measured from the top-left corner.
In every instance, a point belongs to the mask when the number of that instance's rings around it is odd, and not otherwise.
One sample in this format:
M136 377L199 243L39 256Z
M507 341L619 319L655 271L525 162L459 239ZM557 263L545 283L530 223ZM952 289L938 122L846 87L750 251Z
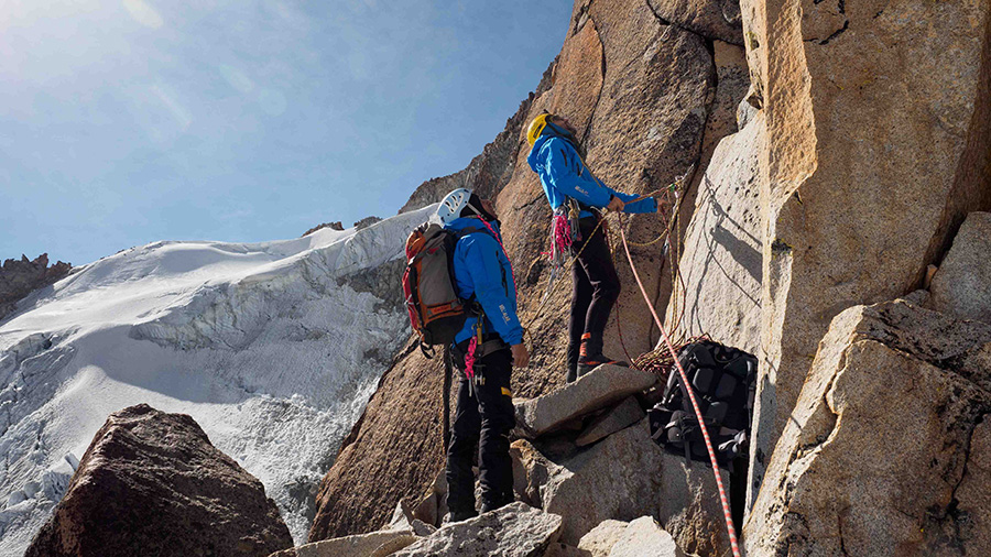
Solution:
M543 396L516 403L516 424L523 437L535 439L568 422L649 389L651 372L599 365L591 373Z

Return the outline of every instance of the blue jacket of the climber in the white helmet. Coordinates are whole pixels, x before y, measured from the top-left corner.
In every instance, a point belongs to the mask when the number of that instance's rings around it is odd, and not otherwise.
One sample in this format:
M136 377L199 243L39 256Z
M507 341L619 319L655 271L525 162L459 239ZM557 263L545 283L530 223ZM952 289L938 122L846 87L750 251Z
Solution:
M496 233L498 222L489 222ZM454 274L458 296L475 299L484 312L483 332L497 332L507 345L523 342L523 326L516 317L516 285L509 259L499 241L478 218L459 218L444 226L447 230L460 232L466 228L478 228L458 240L454 253ZM501 241L501 237L500 237ZM475 335L477 317L469 317L465 327L455 336L455 343Z

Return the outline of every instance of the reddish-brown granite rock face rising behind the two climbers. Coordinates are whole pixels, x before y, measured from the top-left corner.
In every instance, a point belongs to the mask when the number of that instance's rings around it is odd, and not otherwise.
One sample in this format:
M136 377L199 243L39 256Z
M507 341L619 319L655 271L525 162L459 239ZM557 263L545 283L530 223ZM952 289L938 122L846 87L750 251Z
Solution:
M645 1L578 1L558 58L503 133L465 171L422 185L402 209L425 206L462 186L496 199L515 266L520 317L534 342L531 367L513 372L514 396L533 398L564 383L570 296L569 278L560 277L540 308L551 274L538 255L546 251L551 210L526 164L525 127L543 109L567 117L579 128L587 162L601 179L646 194L698 163L719 98L717 78L706 39L658 19ZM624 227L632 241L647 243L665 223L657 215L642 215L627 219ZM634 247L633 256L649 296L663 312L669 291L663 242ZM619 261L617 269L624 290L616 315L635 357L651 350L658 334L628 265ZM606 351L622 353L612 319ZM322 483L311 540L377 528L400 499L418 501L428 491L444 466L442 375L438 362L425 360L412 345L398 357Z

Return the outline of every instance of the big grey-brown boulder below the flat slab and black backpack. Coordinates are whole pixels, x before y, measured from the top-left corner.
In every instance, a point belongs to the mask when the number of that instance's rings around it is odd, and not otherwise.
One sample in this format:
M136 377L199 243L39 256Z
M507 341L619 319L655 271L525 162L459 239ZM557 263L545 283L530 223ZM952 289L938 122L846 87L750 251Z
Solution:
M578 545L603 521L650 515L688 551L730 550L712 470L662 450L651 439L646 419L582 450L560 451L521 439L510 454L516 491L562 515L565 544ZM728 485L729 474L721 473Z

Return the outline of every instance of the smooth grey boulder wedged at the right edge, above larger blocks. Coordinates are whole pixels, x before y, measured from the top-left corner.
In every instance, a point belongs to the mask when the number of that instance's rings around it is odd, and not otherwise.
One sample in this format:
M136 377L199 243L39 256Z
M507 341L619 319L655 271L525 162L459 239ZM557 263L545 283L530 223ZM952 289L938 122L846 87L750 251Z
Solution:
M933 276L937 312L991 324L991 212L971 212Z

